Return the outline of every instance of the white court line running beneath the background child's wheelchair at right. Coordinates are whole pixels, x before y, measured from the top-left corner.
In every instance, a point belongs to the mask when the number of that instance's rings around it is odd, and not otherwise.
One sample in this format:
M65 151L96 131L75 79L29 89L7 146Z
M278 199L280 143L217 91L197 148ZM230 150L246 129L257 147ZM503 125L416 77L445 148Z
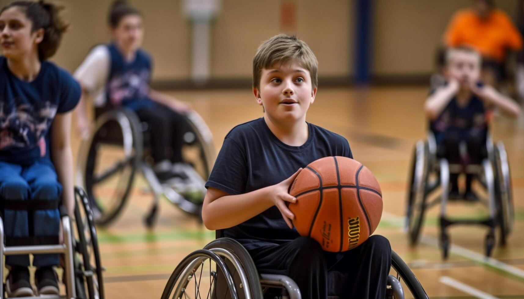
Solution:
M404 222L404 217L399 217L397 215L390 214L387 212L383 212L383 215L394 222L400 223L401 224L400 227L402 226ZM433 238L427 235L422 235L420 237L420 241L427 245L431 245L436 248L439 248L439 240L436 238ZM512 274L514 276L517 276L520 279L524 279L524 270L521 270L517 267L513 267L506 263L503 263L497 259L486 257L484 256L484 254L477 253L473 250L466 249L464 247L455 245L453 243L450 244L450 252L457 254L458 256L464 257L466 259L470 259L475 262L487 265L488 267L493 267L500 271Z

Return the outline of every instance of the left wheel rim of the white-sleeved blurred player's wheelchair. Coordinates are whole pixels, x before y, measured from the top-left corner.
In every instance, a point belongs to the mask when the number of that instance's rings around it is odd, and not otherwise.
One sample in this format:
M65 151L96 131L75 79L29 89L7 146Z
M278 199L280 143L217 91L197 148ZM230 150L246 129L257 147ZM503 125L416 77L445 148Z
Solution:
M84 142L82 143L83 146L81 146L81 154L79 155L82 157L82 164L80 164L78 173L81 174L81 185L85 187L85 191L88 195L93 211L94 220L97 225L104 226L116 219L116 217L124 208L129 193L132 189L133 180L143 153L143 145L141 142L142 138L141 134L139 134L139 128L137 127L137 124L139 124L137 119L137 116L126 108L108 110L97 117L95 128L91 132L91 136L88 140L85 141L85 145ZM94 142L95 137L99 131L111 121L116 121L116 123L118 123L118 127L121 129L124 160L116 163L114 167L109 169L109 171L105 171L105 174L100 175L98 179L92 178L96 163L96 147L99 144L98 142ZM99 204L98 198L96 198L95 194L93 194L94 184L99 182L100 177L102 177L102 179L106 179L110 177L111 174L114 174L127 166L130 167L130 171L127 180L124 182L124 192L118 195L119 201L117 204L112 205L112 209L103 208L101 204ZM119 180L119 182L122 182L122 180Z

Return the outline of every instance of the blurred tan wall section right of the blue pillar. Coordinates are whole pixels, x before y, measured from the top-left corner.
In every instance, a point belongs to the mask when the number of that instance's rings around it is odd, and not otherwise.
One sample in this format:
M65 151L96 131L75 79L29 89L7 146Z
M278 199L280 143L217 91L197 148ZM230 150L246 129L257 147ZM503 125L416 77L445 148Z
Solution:
M453 14L471 0L375 0L375 75L416 75L433 71L436 48ZM496 0L511 17L517 0Z

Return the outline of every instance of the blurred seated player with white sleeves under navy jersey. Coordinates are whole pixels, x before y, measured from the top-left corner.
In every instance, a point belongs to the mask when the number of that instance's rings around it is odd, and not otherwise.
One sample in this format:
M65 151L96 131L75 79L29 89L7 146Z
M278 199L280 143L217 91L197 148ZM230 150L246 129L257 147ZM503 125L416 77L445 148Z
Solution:
M158 179L187 179L192 168L182 160L183 134L188 130L183 114L190 111L190 106L149 87L152 63L140 49L144 35L141 13L126 1L117 0L110 9L108 23L112 41L94 47L74 72L83 91L77 109L78 130L89 135L85 98L90 95L95 107L132 109L152 128L151 156Z

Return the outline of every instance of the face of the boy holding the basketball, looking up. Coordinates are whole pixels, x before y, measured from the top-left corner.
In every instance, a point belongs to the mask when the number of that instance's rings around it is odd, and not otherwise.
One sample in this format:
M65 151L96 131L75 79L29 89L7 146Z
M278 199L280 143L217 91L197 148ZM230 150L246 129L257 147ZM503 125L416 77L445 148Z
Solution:
M305 118L315 100L316 87L311 86L309 71L291 60L263 69L260 89L254 87L253 93L270 118L292 122Z

